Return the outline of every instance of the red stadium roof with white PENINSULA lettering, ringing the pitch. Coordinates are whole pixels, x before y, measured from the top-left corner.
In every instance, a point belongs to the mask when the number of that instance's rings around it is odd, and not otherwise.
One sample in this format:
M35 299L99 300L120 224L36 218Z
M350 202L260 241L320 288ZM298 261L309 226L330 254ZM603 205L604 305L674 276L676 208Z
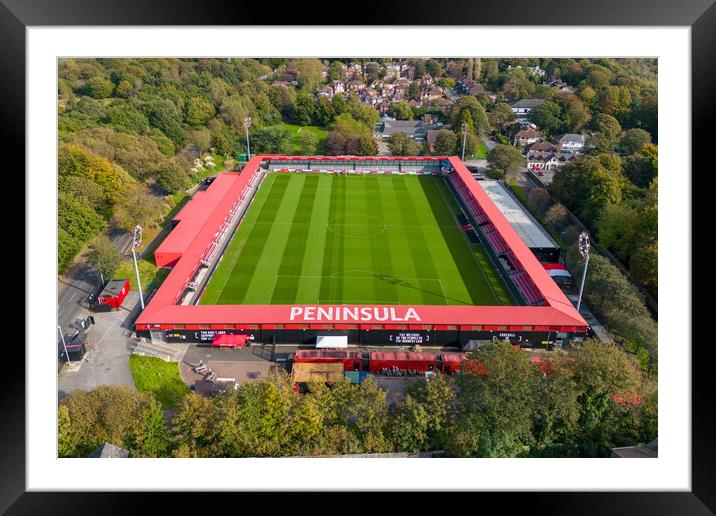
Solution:
M456 173L512 249L546 301L545 306L319 306L319 305L176 305L212 245L229 212L250 184L262 161L281 160L449 160ZM137 330L242 328L249 325L291 324L297 327L352 324L375 329L383 326L460 326L495 331L586 331L588 324L549 277L512 225L482 190L457 157L252 157L241 173L224 172L175 217L177 227L155 252L157 265L173 270L136 321ZM438 329L438 328L436 328Z

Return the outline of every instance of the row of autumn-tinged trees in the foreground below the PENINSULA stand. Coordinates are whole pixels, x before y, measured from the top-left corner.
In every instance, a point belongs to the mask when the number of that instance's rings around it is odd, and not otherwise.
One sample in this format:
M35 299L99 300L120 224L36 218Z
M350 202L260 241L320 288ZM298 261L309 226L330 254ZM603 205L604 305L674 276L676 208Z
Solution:
M128 387L75 391L59 407L59 456L107 441L134 457L601 457L656 437L656 382L618 348L587 341L546 360L491 343L458 375L413 381L394 404L370 377L298 394L280 371L216 397L187 394L168 416Z

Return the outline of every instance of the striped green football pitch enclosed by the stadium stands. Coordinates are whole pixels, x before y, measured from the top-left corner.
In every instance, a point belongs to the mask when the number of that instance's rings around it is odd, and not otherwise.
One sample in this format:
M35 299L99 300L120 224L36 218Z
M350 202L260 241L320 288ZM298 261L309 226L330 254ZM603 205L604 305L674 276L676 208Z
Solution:
M271 173L200 304L513 305L439 176Z

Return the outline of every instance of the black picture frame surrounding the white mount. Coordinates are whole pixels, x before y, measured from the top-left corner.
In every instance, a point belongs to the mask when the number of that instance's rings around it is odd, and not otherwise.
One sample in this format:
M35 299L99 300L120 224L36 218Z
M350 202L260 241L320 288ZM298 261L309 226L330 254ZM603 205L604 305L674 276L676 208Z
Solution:
M525 26L688 26L691 27L692 71L692 151L694 170L697 163L706 161L712 147L714 93L716 93L716 6L714 0L534 0L532 2L470 2L450 3L395 1L386 5L356 4L351 9L343 4L340 9L321 10L306 4L242 3L203 0L0 0L0 113L6 149L24 156L25 149L25 30L29 26L87 26L87 25L284 25L327 24L343 25L525 25ZM324 12L325 11L325 12ZM329 12L330 11L330 12ZM343 13L340 14L339 13ZM327 19L333 15L332 19ZM321 19L323 16L323 19ZM88 48L91 48L88 47ZM568 47L566 47L568 48ZM703 158L698 160L696 158ZM710 167L699 176L710 172ZM688 171L680 173L687 174ZM692 182L695 175L692 175ZM20 182L13 188L17 189ZM704 189L700 189L703 193ZM696 190L699 191L699 190ZM30 192L25 192L26 195ZM20 198L20 196L17 196ZM697 205L696 200L692 206ZM693 217L695 224L698 222ZM694 231L695 233L695 231ZM22 254L24 251L19 251ZM688 256L688 255L687 255ZM696 256L695 256L696 257ZM24 256L23 256L24 258ZM14 255L14 260L17 255ZM23 260L24 262L24 260ZM694 271L706 270L696 266ZM16 262L15 262L16 266ZM26 271L27 273L27 271ZM691 281L691 278L686 278ZM22 292L22 288L17 292ZM683 300L692 303L693 300ZM15 299L17 304L20 304ZM22 304L24 306L24 303ZM692 305L693 306L693 305ZM26 314L26 325L29 324ZM703 325L702 325L703 326ZM697 328L694 328L696 330ZM691 346L691 342L694 343ZM6 342L5 345L9 343ZM716 438L714 430L714 344L697 339L696 334L684 335L679 345L692 353L692 490L690 492L620 492L620 493L479 493L480 507L494 500L504 507L515 502L525 504L532 513L551 514L712 514L716 511ZM25 488L25 377L22 364L15 363L18 373L6 377L0 394L0 414L3 416L0 439L0 510L8 514L37 513L128 513L140 511L146 503L130 493L28 493ZM567 474L567 472L565 472ZM81 486L81 480L78 480ZM181 503L189 509L197 505L205 510L206 494L198 497L165 494L159 503ZM269 503L265 497L256 499L247 494L242 506ZM273 500L274 495L270 495ZM294 503L301 495L294 494ZM197 500L199 498L200 500ZM253 498L249 500L250 498ZM423 510L433 504L445 508L456 502L447 502L447 494L429 497L412 497ZM356 500L358 498L355 498ZM489 500L493 501L493 500ZM299 502L300 503L300 502ZM407 509L409 502L401 501ZM216 509L221 501L212 501ZM246 505L244 505L246 504ZM348 504L351 505L351 504ZM362 505L362 504L361 504ZM147 508L146 506L144 506ZM204 508L201 508L204 507ZM273 507L273 506L272 506ZM383 506L384 508L386 506ZM476 506L477 507L477 506ZM357 509L358 504L353 509ZM348 508L351 510L351 508ZM370 510L365 506L363 510ZM457 509L455 509L457 510ZM144 512L144 511L142 511ZM271 510L270 512L274 512ZM392 511L391 511L392 512ZM402 512L402 511L401 511Z

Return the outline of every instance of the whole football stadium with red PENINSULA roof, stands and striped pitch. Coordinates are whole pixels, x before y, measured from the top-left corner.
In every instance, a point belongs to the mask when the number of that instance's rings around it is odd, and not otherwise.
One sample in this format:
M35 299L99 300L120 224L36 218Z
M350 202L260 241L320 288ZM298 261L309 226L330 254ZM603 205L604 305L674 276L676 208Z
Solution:
M456 157L253 156L174 218L152 340L568 345L588 325Z

